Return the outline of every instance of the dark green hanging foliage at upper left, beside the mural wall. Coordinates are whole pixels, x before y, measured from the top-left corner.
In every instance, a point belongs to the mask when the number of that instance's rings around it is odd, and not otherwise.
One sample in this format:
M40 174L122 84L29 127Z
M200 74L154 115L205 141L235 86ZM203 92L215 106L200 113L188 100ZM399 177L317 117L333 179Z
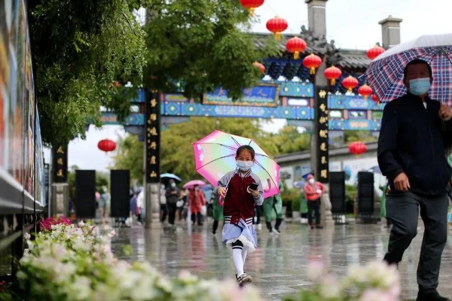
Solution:
M114 81L141 82L145 32L132 14L137 1L28 2L35 91L45 144L84 137L87 120L99 125L99 107L112 101Z

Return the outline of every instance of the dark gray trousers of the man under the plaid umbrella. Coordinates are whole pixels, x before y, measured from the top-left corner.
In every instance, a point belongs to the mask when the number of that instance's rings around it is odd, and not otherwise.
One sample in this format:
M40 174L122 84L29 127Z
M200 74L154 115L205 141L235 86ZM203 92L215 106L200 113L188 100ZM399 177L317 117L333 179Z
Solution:
M424 222L417 284L419 290L431 292L438 286L441 254L447 241L447 195L426 197L412 192L386 196L386 217L393 226L385 260L398 264L403 252L417 234L418 210Z

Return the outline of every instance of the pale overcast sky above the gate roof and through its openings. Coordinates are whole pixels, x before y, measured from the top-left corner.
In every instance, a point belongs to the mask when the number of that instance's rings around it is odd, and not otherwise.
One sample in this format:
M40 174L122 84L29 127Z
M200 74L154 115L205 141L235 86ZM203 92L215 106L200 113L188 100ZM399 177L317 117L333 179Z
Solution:
M338 48L369 49L381 42L378 22L392 15L403 19L403 43L424 34L450 32L451 11L450 0L329 0L326 3L326 36L328 41L334 40ZM286 33L299 33L302 25L308 27L304 0L265 0L264 5L256 10L256 15L254 32L267 32L265 24L275 15L289 23ZM264 129L277 131L284 124L285 120L275 120L273 125L267 124ZM69 166L106 170L112 160L98 150L97 142L106 137L117 140L118 135L125 134L122 126L108 125L102 130L90 126L86 140L77 139L69 144ZM48 152L46 157L49 160Z

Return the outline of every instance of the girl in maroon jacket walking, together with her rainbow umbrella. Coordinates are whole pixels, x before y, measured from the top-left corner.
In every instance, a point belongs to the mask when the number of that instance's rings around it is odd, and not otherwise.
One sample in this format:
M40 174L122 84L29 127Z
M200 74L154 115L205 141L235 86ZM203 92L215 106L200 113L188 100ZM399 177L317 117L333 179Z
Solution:
M244 265L257 247L254 207L279 193L279 166L252 139L217 130L194 143L193 150L196 171L212 185L216 182L214 192L224 206L222 242L232 248L237 281L251 282Z

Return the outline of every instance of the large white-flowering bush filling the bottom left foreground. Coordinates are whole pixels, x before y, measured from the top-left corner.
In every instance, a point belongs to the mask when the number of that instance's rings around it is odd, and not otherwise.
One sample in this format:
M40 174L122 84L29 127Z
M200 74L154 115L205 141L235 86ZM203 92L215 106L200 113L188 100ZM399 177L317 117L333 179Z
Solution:
M45 226L20 260L18 291L26 300L259 300L253 287L230 281L200 280L182 271L170 280L148 263L114 257L110 238L80 222Z

